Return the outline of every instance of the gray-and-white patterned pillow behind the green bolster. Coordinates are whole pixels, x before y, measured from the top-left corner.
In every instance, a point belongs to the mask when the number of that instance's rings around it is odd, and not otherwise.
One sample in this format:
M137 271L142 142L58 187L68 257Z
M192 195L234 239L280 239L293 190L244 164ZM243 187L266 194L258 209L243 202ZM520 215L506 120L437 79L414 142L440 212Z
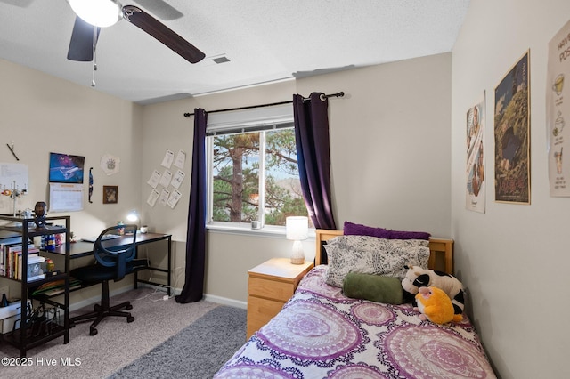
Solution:
M329 266L325 282L342 287L346 274L359 272L402 280L406 264L428 267L429 241L386 239L371 236L338 236L324 246Z

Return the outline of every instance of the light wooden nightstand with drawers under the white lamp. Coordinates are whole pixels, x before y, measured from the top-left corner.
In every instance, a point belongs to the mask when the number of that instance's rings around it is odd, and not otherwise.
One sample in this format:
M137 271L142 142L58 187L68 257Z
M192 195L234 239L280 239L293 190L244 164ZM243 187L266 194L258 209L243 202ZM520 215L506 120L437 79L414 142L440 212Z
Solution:
M279 313L312 268L313 262L291 264L289 258L273 258L248 270L247 338Z

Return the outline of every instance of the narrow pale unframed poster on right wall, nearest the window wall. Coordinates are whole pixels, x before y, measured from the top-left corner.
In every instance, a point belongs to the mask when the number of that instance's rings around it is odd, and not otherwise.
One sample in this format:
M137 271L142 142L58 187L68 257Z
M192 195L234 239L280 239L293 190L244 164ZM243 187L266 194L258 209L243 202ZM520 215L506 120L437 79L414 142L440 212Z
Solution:
M467 188L465 207L485 214L485 95L467 111Z

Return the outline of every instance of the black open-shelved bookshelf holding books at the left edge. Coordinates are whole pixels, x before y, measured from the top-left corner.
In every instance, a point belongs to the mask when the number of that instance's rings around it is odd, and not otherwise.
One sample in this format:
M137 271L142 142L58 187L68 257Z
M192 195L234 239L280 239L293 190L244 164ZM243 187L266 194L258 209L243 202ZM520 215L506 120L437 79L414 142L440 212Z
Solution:
M33 218L21 218L13 216L0 215L0 232L4 235L9 235L8 238L0 239L2 246L2 261L4 262L4 272L0 275L0 282L2 280L12 280L20 283L20 328L14 329L12 332L4 334L3 340L12 343L20 349L20 357L26 357L28 349L31 349L42 343L52 341L55 338L63 337L63 343L69 343L69 230L70 230L70 216L53 216L45 217L46 226L44 229L36 229ZM50 224L59 223L64 224L61 226L53 226ZM65 246L64 270L55 271L53 275L45 274L40 277L37 272L30 270L29 274L35 273L31 278L28 278L28 260L32 267L37 263L41 263L40 258L43 254L49 253L38 250L33 245L33 238L64 234L65 239L62 244ZM18 243L14 243L14 238L20 238L20 254L14 253L18 250ZM4 244L3 241L10 241ZM6 246L4 246L6 245ZM12 248L12 256L5 254L8 253L10 247ZM28 253L31 253L29 255ZM9 262L6 259L10 259ZM15 260L15 261L14 261ZM7 263L10 266L7 267ZM49 294L34 295L37 287L60 281L63 284L63 291L58 294L57 298L53 298ZM62 301L60 300L62 297ZM39 302L39 306L30 310L28 308L28 300L35 300ZM34 302L32 302L34 303ZM58 322L52 322L51 319L45 319L47 311L45 304L53 307L53 309L61 310L63 320L58 318ZM40 317L42 316L43 318ZM53 312L55 316L55 312ZM54 317L55 319L55 317ZM36 324L34 324L36 323ZM43 324L42 324L43 323ZM37 333L37 328L41 333Z

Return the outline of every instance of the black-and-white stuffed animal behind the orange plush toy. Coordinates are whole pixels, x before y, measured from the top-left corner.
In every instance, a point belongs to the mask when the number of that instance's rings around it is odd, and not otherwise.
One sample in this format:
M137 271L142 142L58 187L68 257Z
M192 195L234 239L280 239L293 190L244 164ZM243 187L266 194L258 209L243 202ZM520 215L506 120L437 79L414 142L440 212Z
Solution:
M465 304L463 285L458 278L437 270L426 270L419 266L405 266L408 271L402 280L404 299L411 300L416 305L415 295L419 292L419 287L436 286L444 290L444 293L452 299L455 314L462 314Z

